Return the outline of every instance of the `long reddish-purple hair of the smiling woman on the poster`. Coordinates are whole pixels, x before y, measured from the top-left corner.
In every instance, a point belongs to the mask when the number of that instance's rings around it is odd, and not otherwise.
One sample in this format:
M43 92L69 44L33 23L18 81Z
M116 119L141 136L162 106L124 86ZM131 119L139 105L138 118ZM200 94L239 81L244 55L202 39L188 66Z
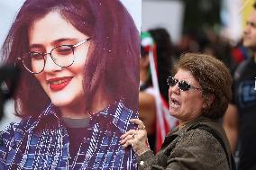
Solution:
M140 36L133 19L118 0L27 0L9 31L2 49L7 63L28 51L28 30L47 13L58 12L78 31L92 37L84 70L86 110L101 86L108 103L138 110ZM40 113L50 98L34 76L23 69L15 95L19 115Z

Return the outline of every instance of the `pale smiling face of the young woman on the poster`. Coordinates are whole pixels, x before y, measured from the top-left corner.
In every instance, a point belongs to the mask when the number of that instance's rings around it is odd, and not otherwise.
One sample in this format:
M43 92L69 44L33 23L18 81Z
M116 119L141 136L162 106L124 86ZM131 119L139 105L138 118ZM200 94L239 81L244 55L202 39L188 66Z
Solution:
M32 24L29 30L29 50L50 53L57 46L75 45L87 38L87 35L76 30L59 13L52 12ZM90 41L74 49L75 60L69 67L59 67L50 58L50 54L47 54L44 70L35 74L51 102L58 106L60 111L62 108L79 107L84 103L82 82L89 43Z

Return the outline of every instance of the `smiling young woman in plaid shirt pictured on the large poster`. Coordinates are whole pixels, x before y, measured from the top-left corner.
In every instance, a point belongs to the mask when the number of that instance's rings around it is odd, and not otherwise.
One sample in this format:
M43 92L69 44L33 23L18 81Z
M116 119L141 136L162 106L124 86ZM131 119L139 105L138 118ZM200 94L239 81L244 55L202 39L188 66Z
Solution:
M119 143L138 117L140 34L124 2L24 1L1 49L21 69L22 121L1 133L0 169L137 168Z

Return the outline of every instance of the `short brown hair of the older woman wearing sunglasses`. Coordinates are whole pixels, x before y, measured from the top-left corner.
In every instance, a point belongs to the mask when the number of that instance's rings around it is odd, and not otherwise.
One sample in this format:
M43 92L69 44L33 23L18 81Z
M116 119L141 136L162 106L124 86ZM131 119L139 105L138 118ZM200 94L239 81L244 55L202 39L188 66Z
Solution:
M191 72L198 81L204 101L210 94L215 96L213 103L203 110L203 115L210 119L222 118L232 98L232 76L224 63L210 55L185 53L175 65L175 73L180 68Z

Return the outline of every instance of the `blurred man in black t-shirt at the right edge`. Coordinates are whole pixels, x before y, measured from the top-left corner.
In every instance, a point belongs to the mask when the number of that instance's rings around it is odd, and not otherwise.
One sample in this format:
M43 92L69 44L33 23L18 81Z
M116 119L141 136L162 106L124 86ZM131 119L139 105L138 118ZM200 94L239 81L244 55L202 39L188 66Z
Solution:
M238 170L256 170L256 4L243 31L243 46L251 58L233 75L233 102L224 116L224 129L233 152L238 150Z

